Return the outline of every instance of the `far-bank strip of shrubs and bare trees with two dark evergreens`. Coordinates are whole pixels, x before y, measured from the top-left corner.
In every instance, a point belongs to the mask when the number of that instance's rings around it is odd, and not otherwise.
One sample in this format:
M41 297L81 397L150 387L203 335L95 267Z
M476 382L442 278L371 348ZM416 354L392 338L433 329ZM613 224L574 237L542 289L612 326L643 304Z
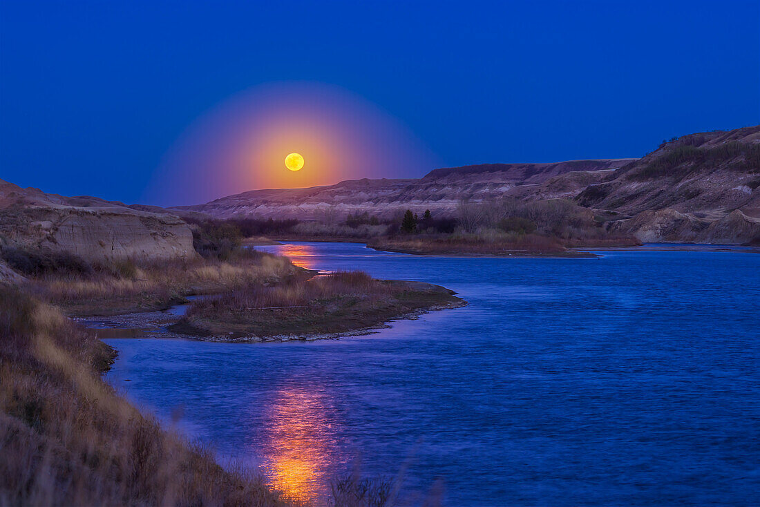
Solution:
M596 213L566 199L461 201L445 216L406 210L390 217L367 212L348 214L344 220L334 214L325 217L226 223L241 238L255 231L270 239L362 241L375 249L420 254L587 256L572 249L641 244L632 235L610 232L619 214Z

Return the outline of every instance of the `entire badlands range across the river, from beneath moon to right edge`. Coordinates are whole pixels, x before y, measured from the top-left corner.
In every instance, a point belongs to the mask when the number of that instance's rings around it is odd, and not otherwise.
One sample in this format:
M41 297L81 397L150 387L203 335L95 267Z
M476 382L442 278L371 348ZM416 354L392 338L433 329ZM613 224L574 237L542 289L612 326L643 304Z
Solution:
M570 199L606 227L644 242L760 242L760 126L663 142L641 159L491 163L436 169L421 179L358 179L310 189L254 190L175 208L218 218L313 220L407 208L439 216L463 200Z

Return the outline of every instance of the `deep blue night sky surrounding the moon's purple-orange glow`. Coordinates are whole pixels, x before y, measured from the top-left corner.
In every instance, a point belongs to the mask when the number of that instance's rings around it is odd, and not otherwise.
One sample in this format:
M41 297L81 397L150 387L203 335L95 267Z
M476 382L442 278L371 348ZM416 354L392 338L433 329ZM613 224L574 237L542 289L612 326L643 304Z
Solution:
M0 73L0 178L192 204L147 197L167 151L278 81L362 97L435 155L388 177L756 125L760 2L5 1Z

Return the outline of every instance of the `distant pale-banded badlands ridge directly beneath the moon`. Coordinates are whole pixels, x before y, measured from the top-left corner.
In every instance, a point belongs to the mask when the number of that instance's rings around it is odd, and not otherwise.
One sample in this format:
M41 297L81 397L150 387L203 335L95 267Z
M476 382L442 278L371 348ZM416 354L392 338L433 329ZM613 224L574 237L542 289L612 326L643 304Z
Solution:
M436 169L421 179L350 179L309 189L252 190L196 206L171 208L217 218L275 217L314 220L331 214L368 212L391 217L407 208L453 215L460 201L487 201L522 193L560 175L572 173L556 189L557 197L580 192L634 159L572 160L560 163L489 163ZM565 188L567 187L567 188Z

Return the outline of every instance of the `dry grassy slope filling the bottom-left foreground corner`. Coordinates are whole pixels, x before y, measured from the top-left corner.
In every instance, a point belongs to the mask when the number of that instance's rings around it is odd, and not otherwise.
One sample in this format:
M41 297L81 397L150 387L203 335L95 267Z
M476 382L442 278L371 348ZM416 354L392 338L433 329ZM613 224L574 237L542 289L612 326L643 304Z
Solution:
M0 505L293 505L116 396L90 331L18 290L0 309Z

